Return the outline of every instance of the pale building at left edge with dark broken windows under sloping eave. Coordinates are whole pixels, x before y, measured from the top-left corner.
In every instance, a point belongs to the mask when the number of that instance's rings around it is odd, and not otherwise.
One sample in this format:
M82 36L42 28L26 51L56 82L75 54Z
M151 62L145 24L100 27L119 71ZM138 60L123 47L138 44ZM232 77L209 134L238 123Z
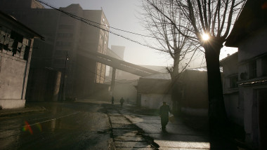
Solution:
M25 107L34 38L42 38L10 15L0 12L0 107Z

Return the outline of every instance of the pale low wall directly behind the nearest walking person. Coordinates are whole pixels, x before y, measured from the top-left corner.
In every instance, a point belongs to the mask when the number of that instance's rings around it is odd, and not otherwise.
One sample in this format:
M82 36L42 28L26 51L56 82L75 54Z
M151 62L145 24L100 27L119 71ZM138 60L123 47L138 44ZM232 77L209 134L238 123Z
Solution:
M162 106L162 102L167 102L172 108L171 95L162 94L142 94L141 95L141 107L147 107L148 109L159 109Z

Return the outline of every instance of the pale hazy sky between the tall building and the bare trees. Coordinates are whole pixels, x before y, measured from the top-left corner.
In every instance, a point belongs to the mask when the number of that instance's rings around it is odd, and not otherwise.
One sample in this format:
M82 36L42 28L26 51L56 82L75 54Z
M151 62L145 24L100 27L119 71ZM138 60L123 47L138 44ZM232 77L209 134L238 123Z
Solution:
M100 10L103 9L105 16L111 27L124 29L129 32L145 34L145 31L138 19L141 12L141 0L43 0L56 7L65 7L70 4L80 4L84 10ZM135 41L143 42L142 36L127 34L111 29L112 32L129 37ZM146 39L149 41L150 39ZM109 48L111 45L125 46L124 60L133 64L147 64L170 66L172 64L171 57L167 53L161 53L145 46L141 46L132 41L123 39L122 37L110 34ZM222 57L226 57L227 53L233 53L236 50L221 50ZM201 62L198 60L193 63L192 67L198 67ZM202 64L203 66L203 64Z

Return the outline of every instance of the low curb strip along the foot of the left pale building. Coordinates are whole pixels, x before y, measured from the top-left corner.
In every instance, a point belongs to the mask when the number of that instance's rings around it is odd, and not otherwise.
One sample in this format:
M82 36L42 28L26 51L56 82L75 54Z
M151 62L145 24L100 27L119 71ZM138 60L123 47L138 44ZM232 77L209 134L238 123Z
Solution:
M0 117L3 116L12 116L18 114L26 114L31 112L41 112L46 111L44 107L25 107L23 109L2 109L0 110Z

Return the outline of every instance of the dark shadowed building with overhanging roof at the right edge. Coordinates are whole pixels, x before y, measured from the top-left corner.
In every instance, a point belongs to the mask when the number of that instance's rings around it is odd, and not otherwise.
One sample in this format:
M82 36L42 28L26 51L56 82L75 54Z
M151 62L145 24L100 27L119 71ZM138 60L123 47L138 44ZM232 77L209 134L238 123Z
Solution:
M245 141L267 149L267 1L248 0L226 46L238 48L238 102Z

